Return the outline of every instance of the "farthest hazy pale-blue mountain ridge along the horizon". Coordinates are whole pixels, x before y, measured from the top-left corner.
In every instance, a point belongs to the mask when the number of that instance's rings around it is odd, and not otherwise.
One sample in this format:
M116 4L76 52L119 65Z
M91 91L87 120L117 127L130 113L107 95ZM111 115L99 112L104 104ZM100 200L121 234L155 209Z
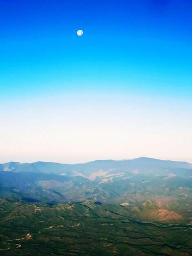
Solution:
M147 157L131 160L96 160L84 164L59 164L54 162L0 164L0 171L14 173L46 173L67 176L82 176L89 180L102 180L103 177L126 176L127 173L153 176L171 175L192 176L192 164L188 162L167 161Z

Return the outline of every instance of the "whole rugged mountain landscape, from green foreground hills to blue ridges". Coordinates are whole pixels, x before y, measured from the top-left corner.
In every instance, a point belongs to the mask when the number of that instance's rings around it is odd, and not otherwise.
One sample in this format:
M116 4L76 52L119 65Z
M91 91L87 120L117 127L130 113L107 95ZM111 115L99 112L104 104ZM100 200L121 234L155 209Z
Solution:
M0 226L7 256L191 255L192 164L0 164Z

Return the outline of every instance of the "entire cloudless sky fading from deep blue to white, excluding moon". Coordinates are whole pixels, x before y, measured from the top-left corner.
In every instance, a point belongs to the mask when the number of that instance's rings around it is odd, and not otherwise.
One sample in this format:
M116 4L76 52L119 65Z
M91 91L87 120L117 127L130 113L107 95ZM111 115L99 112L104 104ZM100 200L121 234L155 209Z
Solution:
M190 0L1 0L0 162L192 159L191 13Z

